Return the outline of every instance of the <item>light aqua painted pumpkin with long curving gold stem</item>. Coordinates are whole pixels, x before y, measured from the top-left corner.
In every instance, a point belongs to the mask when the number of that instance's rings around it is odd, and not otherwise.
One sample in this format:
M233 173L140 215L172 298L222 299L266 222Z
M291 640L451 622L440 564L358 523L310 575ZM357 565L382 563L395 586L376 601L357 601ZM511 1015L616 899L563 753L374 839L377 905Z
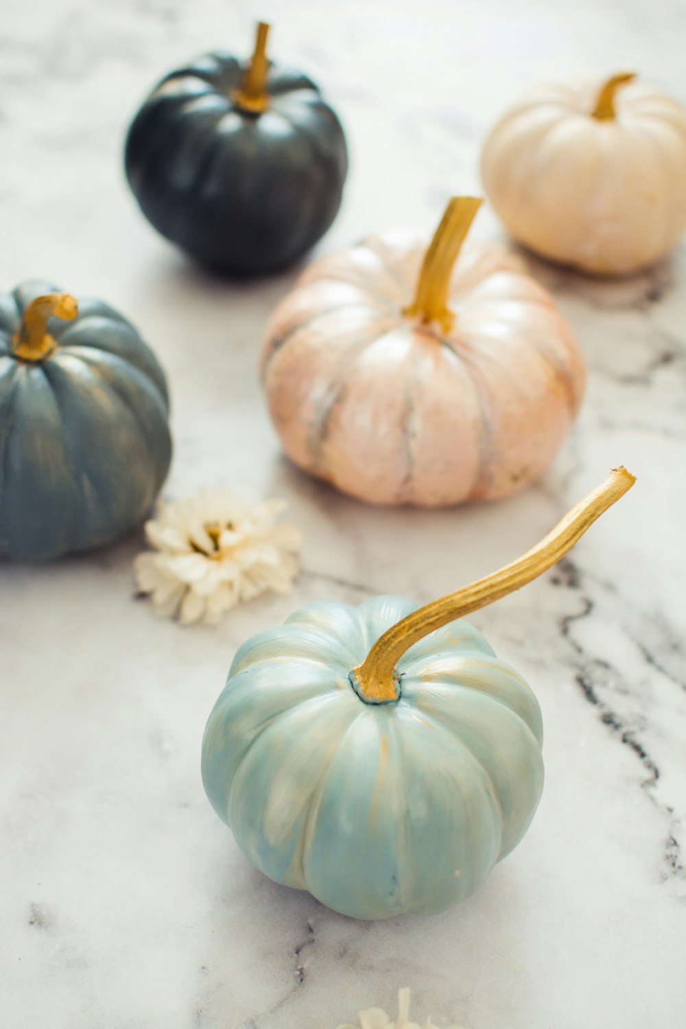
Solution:
M238 651L203 781L247 859L354 918L464 899L543 787L538 702L462 615L557 561L634 483L613 471L534 549L426 607L314 603Z

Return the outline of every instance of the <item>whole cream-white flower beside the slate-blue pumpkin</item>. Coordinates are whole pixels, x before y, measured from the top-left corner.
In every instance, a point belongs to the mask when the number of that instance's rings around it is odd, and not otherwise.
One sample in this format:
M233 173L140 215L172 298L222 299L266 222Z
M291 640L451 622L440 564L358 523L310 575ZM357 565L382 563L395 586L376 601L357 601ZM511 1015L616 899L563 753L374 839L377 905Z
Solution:
M159 614L216 625L265 590L287 593L297 574L300 533L277 520L283 500L249 503L227 491L160 503L145 526L155 553L134 562L136 584Z

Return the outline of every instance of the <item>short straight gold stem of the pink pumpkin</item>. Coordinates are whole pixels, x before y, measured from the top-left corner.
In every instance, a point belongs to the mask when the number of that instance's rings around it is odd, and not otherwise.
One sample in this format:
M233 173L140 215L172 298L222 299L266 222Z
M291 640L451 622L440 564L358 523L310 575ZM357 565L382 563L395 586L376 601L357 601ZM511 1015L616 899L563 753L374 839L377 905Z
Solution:
M425 324L438 322L448 332L455 315L447 306L450 275L469 226L481 206L477 197L453 197L429 244L417 283L414 299L403 314Z

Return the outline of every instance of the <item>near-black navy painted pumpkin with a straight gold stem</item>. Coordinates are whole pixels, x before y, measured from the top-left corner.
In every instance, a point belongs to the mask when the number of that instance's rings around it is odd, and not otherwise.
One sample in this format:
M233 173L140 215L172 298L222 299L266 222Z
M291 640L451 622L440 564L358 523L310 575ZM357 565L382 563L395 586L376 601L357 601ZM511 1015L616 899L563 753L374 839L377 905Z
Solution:
M214 52L171 72L125 144L131 187L158 232L205 264L254 275L292 263L333 221L348 169L338 118L300 71Z

